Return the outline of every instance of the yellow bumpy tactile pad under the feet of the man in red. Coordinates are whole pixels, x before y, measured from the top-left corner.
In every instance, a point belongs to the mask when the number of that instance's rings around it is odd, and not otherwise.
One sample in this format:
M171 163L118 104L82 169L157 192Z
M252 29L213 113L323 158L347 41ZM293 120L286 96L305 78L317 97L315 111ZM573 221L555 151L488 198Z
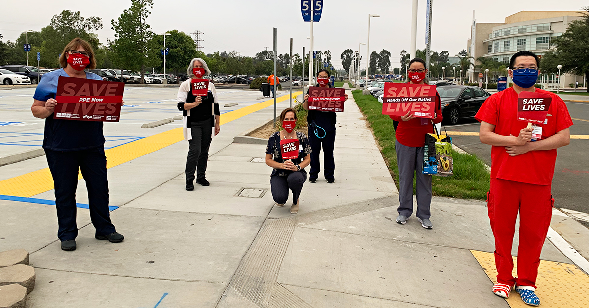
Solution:
M493 253L471 250L472 255L493 283L497 283L497 270L495 269L495 257ZM517 273L517 257L514 257L514 275ZM538 269L538 289L536 294L540 297L540 307L553 308L589 308L589 276L573 264L558 263L552 261L540 261ZM489 292L491 287L489 286ZM511 292L505 299L512 308L530 308L522 302L519 294Z

